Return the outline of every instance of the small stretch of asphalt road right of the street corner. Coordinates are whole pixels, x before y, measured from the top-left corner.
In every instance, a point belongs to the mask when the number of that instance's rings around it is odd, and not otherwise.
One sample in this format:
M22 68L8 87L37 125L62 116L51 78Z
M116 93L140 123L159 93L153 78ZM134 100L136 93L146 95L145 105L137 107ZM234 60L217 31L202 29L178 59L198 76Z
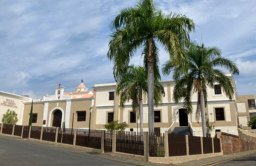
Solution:
M256 153L215 164L214 166L256 166Z

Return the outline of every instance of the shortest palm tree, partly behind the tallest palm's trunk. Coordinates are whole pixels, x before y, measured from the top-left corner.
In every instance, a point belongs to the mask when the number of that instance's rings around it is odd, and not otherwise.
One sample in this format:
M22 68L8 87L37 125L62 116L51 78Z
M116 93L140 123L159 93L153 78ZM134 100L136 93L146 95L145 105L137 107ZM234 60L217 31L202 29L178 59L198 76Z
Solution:
M140 132L143 132L143 102L142 94L147 95L147 71L140 66L130 65L122 74L120 83L116 87L116 94L120 95L120 108L124 108L125 102L132 99L132 111L140 117ZM164 87L155 79L154 81L155 106L162 104Z

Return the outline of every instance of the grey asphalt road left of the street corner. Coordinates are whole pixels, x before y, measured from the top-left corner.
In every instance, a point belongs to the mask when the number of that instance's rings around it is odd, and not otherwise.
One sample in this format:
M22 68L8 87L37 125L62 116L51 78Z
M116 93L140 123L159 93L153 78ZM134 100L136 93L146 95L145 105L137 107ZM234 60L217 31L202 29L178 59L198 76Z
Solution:
M0 166L133 166L50 144L0 136Z

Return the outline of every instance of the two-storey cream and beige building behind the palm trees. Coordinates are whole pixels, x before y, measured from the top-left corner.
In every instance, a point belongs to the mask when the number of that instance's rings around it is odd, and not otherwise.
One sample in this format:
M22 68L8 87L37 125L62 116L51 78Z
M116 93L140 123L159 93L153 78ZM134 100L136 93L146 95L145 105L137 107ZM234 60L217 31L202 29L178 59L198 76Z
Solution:
M229 101L218 84L215 85L215 89L208 87L208 105L205 112L210 121L215 121L215 130L238 135L236 82L234 76L227 75L232 80L235 96L232 101ZM172 91L175 81L161 81L161 84L164 86L165 97L163 105L155 108L155 131L172 132L175 127L190 126L193 135L202 136L201 121L198 124L195 120L196 94L192 98L193 114L187 115L184 113L185 108L183 108L182 102L177 104L173 102ZM126 103L124 109L119 108L116 83L98 84L92 88L95 97L92 107L92 128L103 129L103 125L108 122L119 120L120 122L127 122L130 126L126 129L127 131L140 131L139 127L137 129L137 126L140 126L140 120L132 113L131 103ZM148 104L145 96L143 97L143 120L144 131L148 131ZM214 135L215 131L212 132L212 136Z

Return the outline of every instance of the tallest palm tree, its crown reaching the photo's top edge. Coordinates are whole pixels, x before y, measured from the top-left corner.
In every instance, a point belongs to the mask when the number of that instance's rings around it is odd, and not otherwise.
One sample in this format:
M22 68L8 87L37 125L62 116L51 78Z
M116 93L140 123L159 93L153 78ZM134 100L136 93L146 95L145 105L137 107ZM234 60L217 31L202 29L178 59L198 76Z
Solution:
M153 0L140 0L135 6L120 9L109 25L113 33L108 43L113 74L120 81L121 73L138 50L144 55L148 71L148 128L154 132L154 78L160 80L158 42L174 58L176 65L185 66L184 45L189 33L195 31L193 20L178 13L162 13Z

